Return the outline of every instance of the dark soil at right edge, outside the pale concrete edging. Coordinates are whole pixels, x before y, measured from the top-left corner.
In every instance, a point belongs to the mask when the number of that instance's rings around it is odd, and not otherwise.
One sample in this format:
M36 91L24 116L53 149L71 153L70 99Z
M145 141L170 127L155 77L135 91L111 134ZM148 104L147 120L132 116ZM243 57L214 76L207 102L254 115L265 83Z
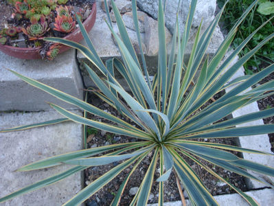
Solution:
M274 80L274 73L271 73L268 77L264 78L262 81L260 81L260 84L264 84L266 82ZM258 101L258 106L260 110L264 110L266 108L273 108L274 107L274 95L270 95L267 98L264 98L260 101ZM264 124L274 124L274 116L273 117L267 117L264 120ZM271 143L271 151L274 152L274 133L269 134L269 141Z

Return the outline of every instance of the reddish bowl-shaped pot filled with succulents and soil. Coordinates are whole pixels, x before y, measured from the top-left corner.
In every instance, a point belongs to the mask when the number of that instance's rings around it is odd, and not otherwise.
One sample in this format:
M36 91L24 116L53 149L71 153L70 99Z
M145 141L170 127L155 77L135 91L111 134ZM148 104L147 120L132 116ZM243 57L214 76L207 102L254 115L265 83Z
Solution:
M7 38L7 41L1 41L0 45L0 50L5 54L23 59L43 58L45 56L43 55L45 54L45 48L48 48L48 43L41 41L42 38L57 36L71 41L80 41L82 39L80 30L76 28L75 16L78 10L81 10L80 5L82 1L66 2L67 5L62 5L61 1L58 3L55 0L9 2L10 4L5 6L8 9L14 8L14 12L10 16L8 26L11 28L14 25L22 27L23 32L17 32L12 37L6 34L2 35L4 38ZM90 11L90 13L82 19L82 22L87 30L91 30L96 18L95 0L89 1L84 6L86 10L83 12ZM62 18L62 15L67 16L67 18ZM55 19L58 19L57 22L55 22ZM56 23L57 27L54 27L54 23ZM60 32L56 32L54 28ZM0 33L3 33L2 30L0 29ZM69 47L60 45L60 53L67 51L67 49Z

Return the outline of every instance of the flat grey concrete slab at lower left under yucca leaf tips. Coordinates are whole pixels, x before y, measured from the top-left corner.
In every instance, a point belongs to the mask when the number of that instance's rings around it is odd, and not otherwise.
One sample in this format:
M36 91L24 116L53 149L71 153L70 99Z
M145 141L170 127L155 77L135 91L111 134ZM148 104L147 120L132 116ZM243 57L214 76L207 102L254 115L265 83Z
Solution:
M82 115L79 111L73 111ZM39 113L0 113L0 130L22 124L32 124L60 118L56 111ZM82 149L82 125L73 122L32 128L12 133L0 133L0 196L71 168L58 166L32 172L14 172L34 161ZM82 189L82 174L78 172L49 187L16 197L1 206L62 205Z

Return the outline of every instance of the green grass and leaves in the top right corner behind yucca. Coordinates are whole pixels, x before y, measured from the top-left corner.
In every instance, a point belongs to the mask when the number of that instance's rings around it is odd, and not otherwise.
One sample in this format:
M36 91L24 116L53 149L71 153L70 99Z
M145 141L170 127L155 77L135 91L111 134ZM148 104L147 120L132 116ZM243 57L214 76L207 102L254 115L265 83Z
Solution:
M222 6L225 3L225 0L218 0L218 5ZM227 3L224 14L222 15L221 21L225 23L225 27L227 30L231 30L236 21L240 18L240 15L244 10L247 10L249 5L253 3L253 0L230 0ZM251 13L247 16L245 21L240 25L238 32L236 33L236 39L233 41L233 47L236 48L237 45L242 43L247 36L249 36L252 32L254 32L262 23L267 21L270 16L265 16L261 14L260 11L264 11L266 3L273 4L274 2L261 0L259 1L259 5L251 11ZM268 7L269 10L269 7ZM264 11L265 12L265 11ZM271 13L269 13L271 14ZM260 41L269 36L274 31L274 20L272 19L267 25L262 27L262 29L257 32L251 39L249 43L247 43L246 47L240 52L240 56L244 56L251 49L253 49ZM274 40L266 43L261 49L256 52L255 56L253 56L250 60L248 60L244 64L244 69L247 74L252 74L253 71L260 71L263 69L264 65L271 65L274 62Z

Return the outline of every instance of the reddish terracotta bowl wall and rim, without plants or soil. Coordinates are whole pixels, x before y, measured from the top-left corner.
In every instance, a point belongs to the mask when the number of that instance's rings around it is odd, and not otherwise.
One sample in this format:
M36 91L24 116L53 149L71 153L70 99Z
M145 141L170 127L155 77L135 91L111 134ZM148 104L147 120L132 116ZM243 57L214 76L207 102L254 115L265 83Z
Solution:
M87 32L89 32L91 30L91 28L93 27L94 23L95 23L95 19L96 19L96 3L93 3L93 7L91 10L91 13L89 14L89 16L87 17L87 19L84 21L83 25L86 28ZM80 29L76 29L74 30L71 34L67 35L64 37L65 39L71 40L71 41L76 41L76 42L80 42L83 39L83 36L80 32ZM22 58L22 59L37 59L37 58L41 58L40 54L39 54L39 50L41 49L41 47L35 47L35 48L20 48L20 47L11 47L8 45L1 45L0 44L0 51L8 54L10 56L14 56L16 58ZM65 52L68 49L70 49L70 47L67 47L65 45L60 45L60 52Z

